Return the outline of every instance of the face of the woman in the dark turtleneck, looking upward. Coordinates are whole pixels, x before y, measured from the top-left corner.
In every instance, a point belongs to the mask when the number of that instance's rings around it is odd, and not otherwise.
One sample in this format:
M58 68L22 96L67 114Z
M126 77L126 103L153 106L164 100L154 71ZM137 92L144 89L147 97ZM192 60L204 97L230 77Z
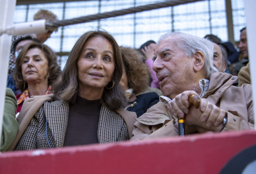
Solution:
M97 89L103 92L113 76L114 64L110 42L104 37L90 38L77 61L79 90Z

